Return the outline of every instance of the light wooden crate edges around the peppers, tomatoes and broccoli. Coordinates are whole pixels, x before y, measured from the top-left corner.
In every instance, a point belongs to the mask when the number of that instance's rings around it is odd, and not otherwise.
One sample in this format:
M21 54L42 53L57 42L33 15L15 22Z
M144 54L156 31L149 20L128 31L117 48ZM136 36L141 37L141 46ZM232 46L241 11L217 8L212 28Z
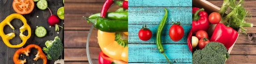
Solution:
M210 14L212 12L218 12L221 9L218 6L215 6L212 3L208 2L207 0L192 0L192 5L199 7L199 8L204 8L205 12L207 12L208 14ZM241 30L239 29L239 31L241 31ZM237 37L239 37L239 35ZM236 40L237 40L237 38L236 38ZM236 43L236 41L235 41L235 43ZM231 52L235 43L228 49L228 53Z

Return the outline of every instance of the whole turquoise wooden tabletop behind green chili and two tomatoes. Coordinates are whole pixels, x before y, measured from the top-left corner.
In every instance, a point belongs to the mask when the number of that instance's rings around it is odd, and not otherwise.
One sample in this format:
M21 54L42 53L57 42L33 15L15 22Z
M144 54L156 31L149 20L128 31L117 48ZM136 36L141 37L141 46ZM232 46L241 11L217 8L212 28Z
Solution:
M156 31L168 10L162 33L165 53L173 64L192 64L192 52L187 46L187 36L192 27L192 0L129 0L128 8L128 62L129 64L168 64L156 46ZM180 21L183 38L174 42L169 37L172 21ZM149 41L141 41L138 32L143 25L152 31Z

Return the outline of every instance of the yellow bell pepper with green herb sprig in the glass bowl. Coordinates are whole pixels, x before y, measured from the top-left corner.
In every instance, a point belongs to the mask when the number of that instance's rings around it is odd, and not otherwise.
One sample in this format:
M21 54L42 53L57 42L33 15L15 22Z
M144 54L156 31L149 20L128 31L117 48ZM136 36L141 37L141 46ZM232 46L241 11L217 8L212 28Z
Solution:
M99 47L108 57L128 62L128 36L123 32L120 33L98 30Z

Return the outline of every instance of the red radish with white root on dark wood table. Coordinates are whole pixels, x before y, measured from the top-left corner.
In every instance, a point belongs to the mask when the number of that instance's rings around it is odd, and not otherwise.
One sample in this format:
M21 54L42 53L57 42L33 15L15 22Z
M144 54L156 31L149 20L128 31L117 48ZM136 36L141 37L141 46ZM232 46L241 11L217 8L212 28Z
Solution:
M49 11L51 12L50 9L49 9ZM60 22L59 18L56 15L52 15L52 12L51 12L51 16L48 17L48 23L50 24L50 26L55 26L55 31L57 31L57 32L59 31L59 28L58 28L59 22ZM63 28L62 26L60 26L60 27Z

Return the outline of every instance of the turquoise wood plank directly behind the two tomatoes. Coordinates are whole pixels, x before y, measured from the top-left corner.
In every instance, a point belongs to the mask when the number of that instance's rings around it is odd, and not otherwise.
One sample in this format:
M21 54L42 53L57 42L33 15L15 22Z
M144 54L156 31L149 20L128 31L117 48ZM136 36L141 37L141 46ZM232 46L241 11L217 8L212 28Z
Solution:
M159 25L147 25L148 29L151 30L152 32L152 37L148 41L141 41L140 38L138 37L138 32L142 28L143 25L128 25L128 44L155 44L156 43L156 32L157 32L157 27ZM181 26L184 29L184 35L183 38L180 41L172 41L171 38L169 37L169 28L172 25L165 25L163 28L162 32L162 43L163 44L187 44L187 36L189 34L189 31L191 29L191 24L190 25L184 25L181 24Z

